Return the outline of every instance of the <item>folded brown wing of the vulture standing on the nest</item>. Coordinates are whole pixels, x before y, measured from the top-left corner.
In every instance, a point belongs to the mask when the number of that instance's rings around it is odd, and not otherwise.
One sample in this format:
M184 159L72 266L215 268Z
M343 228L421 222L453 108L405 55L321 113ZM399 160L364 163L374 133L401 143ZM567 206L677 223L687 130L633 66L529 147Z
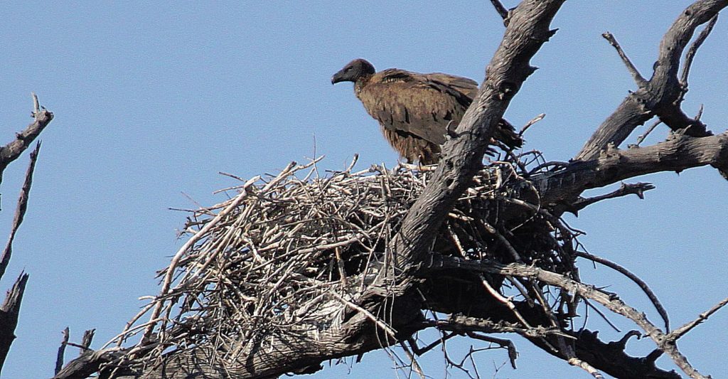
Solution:
M445 142L448 123L462 119L472 102L448 83L454 81L477 91L470 79L390 68L372 76L357 96L382 127L440 145Z

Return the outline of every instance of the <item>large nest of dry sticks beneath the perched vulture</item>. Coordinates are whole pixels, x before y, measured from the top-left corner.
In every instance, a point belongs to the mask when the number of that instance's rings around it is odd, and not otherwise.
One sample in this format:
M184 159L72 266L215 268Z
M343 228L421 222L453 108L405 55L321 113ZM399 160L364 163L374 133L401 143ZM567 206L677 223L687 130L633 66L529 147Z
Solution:
M162 295L132 323L153 308L157 314L127 328L118 343L146 328L140 346L159 354L143 360L207 346L226 367L251 341L265 346L266 338L301 327L314 335L334 327L344 302L356 303L391 257L389 241L430 176L403 164L353 166L319 175L315 161L291 164L226 188L235 196L192 212L183 232L189 241L160 272ZM523 164L499 161L475 176L432 250L572 273L570 234L556 224L539 207Z

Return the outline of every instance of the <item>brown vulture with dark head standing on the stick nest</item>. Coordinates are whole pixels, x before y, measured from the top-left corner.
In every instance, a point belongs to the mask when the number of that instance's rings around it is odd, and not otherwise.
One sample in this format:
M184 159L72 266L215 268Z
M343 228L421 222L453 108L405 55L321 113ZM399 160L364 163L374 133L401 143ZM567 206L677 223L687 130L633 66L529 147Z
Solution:
M354 93L367 113L379 121L384 137L409 163L437 163L448 124L456 127L478 95L478 83L462 76L398 68L376 72L363 59L352 60L333 74L331 84L341 81L354 83ZM510 148L523 143L505 120L494 137Z

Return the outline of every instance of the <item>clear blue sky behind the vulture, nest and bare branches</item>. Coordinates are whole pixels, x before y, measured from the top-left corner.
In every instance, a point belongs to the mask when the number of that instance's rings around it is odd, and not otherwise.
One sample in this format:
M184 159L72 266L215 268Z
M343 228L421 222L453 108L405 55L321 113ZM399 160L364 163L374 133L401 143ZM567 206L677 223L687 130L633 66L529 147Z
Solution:
M534 59L540 69L506 114L521 125L547 113L529 129L526 147L553 160L573 156L635 89L601 33L612 31L649 76L662 33L687 4L568 1L553 23L559 32ZM220 201L213 191L232 181L219 171L274 172L314 150L326 155L325 169L341 169L354 153L360 167L394 164L397 156L351 86L331 86L344 63L365 57L378 69L480 81L503 31L488 1L185 5L18 1L0 10L0 140L31 121L31 91L55 113L41 135L28 215L0 283L7 289L21 270L30 274L4 378L50 377L66 326L76 342L96 328L93 347L122 330L143 304L137 298L157 293L154 273L181 244L175 232L185 215L167 208L195 207L183 193L199 204ZM687 113L703 103L703 120L718 132L728 120L727 25L720 20L698 52L684 103ZM660 127L648 142L666 133ZM0 236L7 235L26 162L27 155L4 174ZM582 242L591 252L645 279L676 327L728 295L728 182L710 168L638 180L657 185L645 201L615 199L569 220L588 232ZM606 268L581 267L586 282L610 286L657 322L635 285ZM603 325L593 315L589 322ZM602 329L602 338L619 338ZM703 373L728 377L726 330L722 311L678 346ZM504 367L496 378L587 378L520 338L515 343L519 369ZM454 344L451 354L469 344ZM653 347L633 340L628 351L644 355ZM441 354L422 359L433 378L444 375ZM507 356L487 351L478 360L490 378ZM665 359L660 366L673 368ZM349 378L395 378L389 367L386 354L368 354ZM312 377L348 371L340 365Z

